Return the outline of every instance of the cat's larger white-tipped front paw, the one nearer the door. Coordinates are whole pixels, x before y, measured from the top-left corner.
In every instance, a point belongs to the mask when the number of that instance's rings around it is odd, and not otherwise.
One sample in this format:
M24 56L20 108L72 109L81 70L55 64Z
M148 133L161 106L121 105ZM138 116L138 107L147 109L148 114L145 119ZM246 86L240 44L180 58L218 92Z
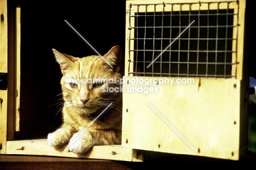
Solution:
M75 133L69 141L69 151L75 154L84 154L90 150L94 145L92 143L92 136L90 134L82 134L82 132Z

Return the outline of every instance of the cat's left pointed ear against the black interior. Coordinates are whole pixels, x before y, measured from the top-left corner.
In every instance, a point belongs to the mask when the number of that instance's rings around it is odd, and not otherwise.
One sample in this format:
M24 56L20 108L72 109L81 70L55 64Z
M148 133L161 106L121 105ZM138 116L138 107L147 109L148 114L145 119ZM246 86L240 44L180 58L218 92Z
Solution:
M60 64L62 73L65 73L67 69L72 65L73 61L76 60L75 57L64 54L55 49L53 49L53 52L54 52L56 61Z

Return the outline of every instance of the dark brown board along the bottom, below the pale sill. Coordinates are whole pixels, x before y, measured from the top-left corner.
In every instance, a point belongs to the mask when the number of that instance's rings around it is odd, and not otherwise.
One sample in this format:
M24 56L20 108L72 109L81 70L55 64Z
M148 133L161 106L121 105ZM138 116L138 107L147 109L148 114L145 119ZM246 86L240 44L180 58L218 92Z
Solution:
M133 169L133 162L74 159L53 156L0 155L0 169Z

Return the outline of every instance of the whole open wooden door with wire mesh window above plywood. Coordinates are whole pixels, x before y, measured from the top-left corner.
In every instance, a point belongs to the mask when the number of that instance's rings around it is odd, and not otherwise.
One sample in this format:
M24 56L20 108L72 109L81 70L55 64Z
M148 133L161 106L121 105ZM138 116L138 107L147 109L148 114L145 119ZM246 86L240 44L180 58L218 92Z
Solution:
M126 1L123 147L246 155L245 5Z

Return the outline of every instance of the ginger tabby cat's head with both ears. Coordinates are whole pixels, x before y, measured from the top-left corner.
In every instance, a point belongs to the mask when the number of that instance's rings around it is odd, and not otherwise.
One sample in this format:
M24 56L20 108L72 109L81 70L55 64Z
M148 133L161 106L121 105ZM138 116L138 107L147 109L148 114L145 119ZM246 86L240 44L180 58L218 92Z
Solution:
M66 107L72 107L79 114L91 114L121 97L120 92L109 92L110 87L120 87L121 49L114 46L104 59L101 56L83 58L62 54L54 50L61 67L63 98Z

